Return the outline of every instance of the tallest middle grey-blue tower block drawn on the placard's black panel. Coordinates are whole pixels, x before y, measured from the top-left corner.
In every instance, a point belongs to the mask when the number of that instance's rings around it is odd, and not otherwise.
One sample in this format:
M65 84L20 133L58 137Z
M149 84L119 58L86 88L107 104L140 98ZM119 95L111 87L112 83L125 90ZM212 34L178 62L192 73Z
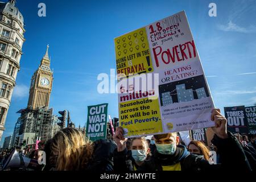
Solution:
M185 89L185 84L176 85L178 102L187 102L194 100L193 90Z

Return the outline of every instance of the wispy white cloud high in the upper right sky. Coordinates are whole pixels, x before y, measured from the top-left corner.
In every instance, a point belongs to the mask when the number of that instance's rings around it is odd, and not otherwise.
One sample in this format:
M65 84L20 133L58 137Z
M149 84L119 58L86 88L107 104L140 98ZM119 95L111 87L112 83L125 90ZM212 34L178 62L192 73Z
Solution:
M240 27L236 23L233 23L231 20L226 25L219 24L218 29L225 31L225 32L241 32L241 33L255 33L256 32L255 26L249 26L247 28Z

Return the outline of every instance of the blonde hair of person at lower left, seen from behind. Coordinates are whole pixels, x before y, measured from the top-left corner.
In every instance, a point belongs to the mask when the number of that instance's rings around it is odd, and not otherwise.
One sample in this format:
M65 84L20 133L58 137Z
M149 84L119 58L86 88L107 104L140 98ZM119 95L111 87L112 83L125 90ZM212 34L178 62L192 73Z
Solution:
M68 127L52 138L51 151L57 153L58 171L80 170L92 158L93 145L79 130Z

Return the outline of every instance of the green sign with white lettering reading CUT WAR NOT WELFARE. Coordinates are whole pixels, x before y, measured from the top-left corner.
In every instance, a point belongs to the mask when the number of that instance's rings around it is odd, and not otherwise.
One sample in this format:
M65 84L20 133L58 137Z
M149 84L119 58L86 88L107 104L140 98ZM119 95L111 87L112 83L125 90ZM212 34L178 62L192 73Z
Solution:
M90 140L106 139L108 104L88 106L86 136Z

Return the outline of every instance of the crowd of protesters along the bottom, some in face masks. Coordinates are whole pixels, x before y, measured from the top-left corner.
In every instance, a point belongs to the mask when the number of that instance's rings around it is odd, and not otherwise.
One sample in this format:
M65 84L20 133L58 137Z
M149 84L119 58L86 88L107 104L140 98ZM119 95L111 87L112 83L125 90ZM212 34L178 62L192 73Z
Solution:
M67 127L40 144L37 151L30 155L20 151L20 155L38 159L38 151L43 150L46 165L37 168L43 171L255 171L255 135L241 136L227 131L226 118L219 109L213 109L211 119L215 127L210 148L195 140L186 147L178 133L127 139L122 127L117 127L113 140L92 142L79 130ZM216 152L217 161L211 158L210 150ZM2 161L7 156L7 152L2 153Z

